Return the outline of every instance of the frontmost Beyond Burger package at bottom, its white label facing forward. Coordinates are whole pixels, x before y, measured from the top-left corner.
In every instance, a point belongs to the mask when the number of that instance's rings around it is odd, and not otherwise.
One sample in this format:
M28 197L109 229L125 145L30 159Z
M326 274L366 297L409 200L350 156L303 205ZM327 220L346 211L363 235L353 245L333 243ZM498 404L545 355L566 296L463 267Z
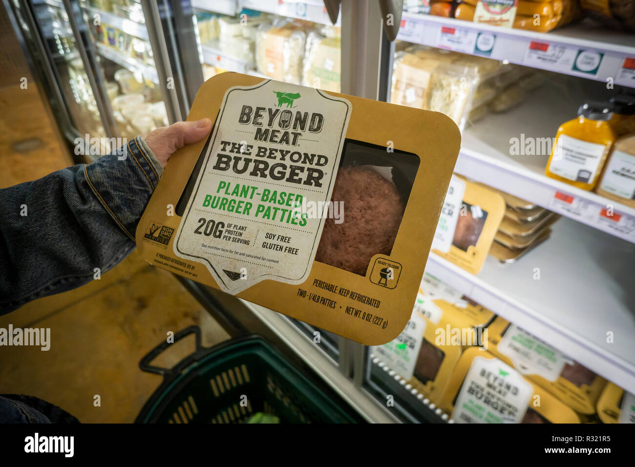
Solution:
M441 408L456 423L580 423L565 403L477 347L459 358Z

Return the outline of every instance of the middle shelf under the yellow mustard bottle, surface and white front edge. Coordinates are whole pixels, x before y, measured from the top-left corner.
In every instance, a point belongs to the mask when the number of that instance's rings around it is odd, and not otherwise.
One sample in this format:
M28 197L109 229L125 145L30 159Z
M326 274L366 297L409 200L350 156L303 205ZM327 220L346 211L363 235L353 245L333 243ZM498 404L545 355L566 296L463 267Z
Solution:
M545 176L558 126L574 118L582 102L566 83L549 81L516 109L467 127L455 172L635 243L635 209ZM533 140L542 151L512 155L513 138L523 149Z

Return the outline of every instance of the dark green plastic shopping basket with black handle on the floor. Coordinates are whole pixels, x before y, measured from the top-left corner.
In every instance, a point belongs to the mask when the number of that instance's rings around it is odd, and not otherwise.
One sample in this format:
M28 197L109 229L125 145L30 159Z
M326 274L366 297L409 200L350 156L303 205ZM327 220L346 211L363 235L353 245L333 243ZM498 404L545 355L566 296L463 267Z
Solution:
M162 342L139 363L163 376L136 423L244 423L257 412L281 423L355 423L361 417L338 395L327 395L257 335L211 348L201 329L177 332L174 342L195 334L196 351L172 369L150 365L171 344Z

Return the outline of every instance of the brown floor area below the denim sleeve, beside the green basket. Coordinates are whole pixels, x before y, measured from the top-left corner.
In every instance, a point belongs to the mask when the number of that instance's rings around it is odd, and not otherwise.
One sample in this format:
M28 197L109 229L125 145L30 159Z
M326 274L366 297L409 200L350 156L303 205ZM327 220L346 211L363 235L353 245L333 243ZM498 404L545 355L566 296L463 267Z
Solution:
M0 393L42 398L84 423L135 420L161 382L138 362L169 331L197 324L203 345L229 339L172 274L147 264L136 250L100 280L0 316L0 327L10 323L50 328L50 350L2 347ZM193 339L184 339L156 364L171 367L193 350Z

